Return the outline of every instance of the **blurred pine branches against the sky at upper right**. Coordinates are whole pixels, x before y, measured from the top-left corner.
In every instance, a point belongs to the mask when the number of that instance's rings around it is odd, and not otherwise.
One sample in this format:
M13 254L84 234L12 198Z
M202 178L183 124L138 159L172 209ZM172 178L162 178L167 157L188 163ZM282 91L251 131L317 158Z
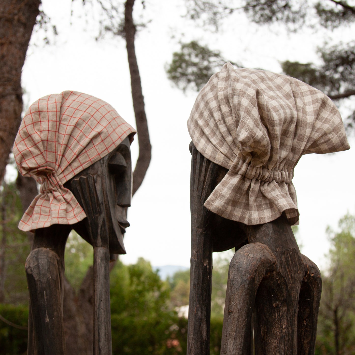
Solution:
M284 23L288 31L297 31L302 26L321 26L332 31L355 22L354 1L185 0L185 3L187 16L213 31L218 31L224 18L239 11L244 11L250 21L260 25ZM325 43L318 48L318 55L321 65L287 60L281 63L282 71L320 89L333 100L355 95L355 42L339 41L330 46ZM180 51L173 54L166 72L179 88L186 90L190 87L199 91L221 62L226 61L220 51L196 41L181 43ZM355 111L346 120L350 128L354 122Z

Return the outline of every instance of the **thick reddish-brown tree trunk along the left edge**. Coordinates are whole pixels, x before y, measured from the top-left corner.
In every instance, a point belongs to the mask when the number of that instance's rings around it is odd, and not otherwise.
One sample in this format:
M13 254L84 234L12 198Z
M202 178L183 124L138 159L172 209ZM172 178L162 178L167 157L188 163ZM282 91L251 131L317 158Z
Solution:
M0 180L20 126L21 71L40 0L2 0L0 6Z

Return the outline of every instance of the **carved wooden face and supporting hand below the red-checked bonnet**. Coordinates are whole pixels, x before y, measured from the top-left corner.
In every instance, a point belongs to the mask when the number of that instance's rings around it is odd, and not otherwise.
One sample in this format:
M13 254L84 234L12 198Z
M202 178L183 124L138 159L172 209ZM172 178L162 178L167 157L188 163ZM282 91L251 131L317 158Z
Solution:
M109 247L111 254L125 254L123 235L129 223L127 207L132 198L132 164L127 137L106 157L66 182L87 218L73 225L93 246Z

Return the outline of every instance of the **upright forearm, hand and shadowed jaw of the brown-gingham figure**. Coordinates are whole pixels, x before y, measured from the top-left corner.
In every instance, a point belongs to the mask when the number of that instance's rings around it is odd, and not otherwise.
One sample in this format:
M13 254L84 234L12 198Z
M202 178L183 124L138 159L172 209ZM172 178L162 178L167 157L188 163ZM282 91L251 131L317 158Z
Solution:
M226 250L246 242L239 224L209 212L204 201L226 174L226 169L204 158L190 145L191 269L187 354L209 354L211 318L212 251ZM223 228L233 236L223 240ZM226 249L224 249L226 248Z

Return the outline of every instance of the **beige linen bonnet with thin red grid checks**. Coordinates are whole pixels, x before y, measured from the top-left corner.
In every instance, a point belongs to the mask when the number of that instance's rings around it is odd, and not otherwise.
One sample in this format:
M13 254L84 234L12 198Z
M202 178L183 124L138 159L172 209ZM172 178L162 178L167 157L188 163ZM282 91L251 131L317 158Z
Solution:
M29 231L84 219L85 212L63 184L135 132L111 105L91 95L64 91L34 102L12 151L20 173L41 186L18 228Z

